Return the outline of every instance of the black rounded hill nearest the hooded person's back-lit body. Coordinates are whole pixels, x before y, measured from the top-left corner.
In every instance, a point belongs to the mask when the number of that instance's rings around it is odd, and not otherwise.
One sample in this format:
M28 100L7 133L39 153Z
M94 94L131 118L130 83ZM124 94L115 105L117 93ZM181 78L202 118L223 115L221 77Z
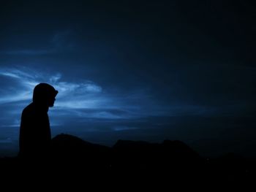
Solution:
M56 166L107 169L110 157L110 147L86 142L69 134L59 134L52 139L52 158Z

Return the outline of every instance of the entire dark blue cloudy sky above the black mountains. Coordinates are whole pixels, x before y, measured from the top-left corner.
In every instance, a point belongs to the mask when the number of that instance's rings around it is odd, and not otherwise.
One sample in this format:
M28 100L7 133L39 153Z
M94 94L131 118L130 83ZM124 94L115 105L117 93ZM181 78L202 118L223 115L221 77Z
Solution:
M53 137L256 156L255 10L244 0L2 2L0 156L17 155L39 82L59 91Z

